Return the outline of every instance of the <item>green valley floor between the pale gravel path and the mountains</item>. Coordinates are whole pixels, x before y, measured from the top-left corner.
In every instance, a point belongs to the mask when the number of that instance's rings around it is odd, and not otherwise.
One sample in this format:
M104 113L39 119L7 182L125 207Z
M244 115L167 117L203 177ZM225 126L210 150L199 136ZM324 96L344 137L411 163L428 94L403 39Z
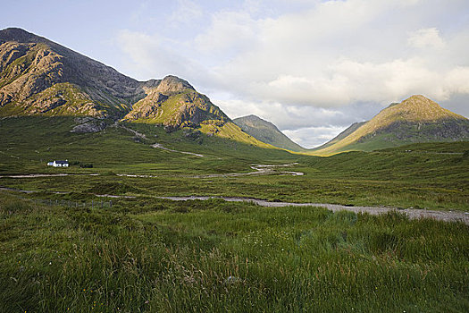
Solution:
M349 152L332 157L289 154L255 148L235 140L207 137L197 131L171 134L148 124L127 124L146 134L136 137L120 127L95 134L71 133L71 118L24 117L0 121L0 175L21 173L99 173L42 178L1 178L0 185L38 190L40 196L89 198L94 193L130 196L215 195L319 202L344 205L428 207L469 210L469 142L415 144L374 152ZM196 157L159 148L202 154ZM409 152L410 151L410 152ZM78 165L47 168L46 162L69 159ZM252 164L292 164L291 176L220 176L248 173ZM155 176L127 177L117 174ZM218 174L219 176L204 176ZM109 186L105 188L105 185ZM126 186L131 186L129 189ZM51 191L69 191L53 195ZM105 191L105 192L104 192Z

